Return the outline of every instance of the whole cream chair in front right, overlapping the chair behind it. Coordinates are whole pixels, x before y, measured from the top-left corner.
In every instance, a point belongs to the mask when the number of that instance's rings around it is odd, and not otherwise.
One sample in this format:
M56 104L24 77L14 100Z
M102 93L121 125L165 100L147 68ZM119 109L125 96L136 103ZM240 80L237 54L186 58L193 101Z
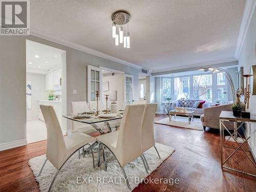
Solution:
M100 148L103 144L107 147L110 152L116 158L118 164L120 165L123 175L126 180L127 187L131 190L129 180L127 179L126 173L123 169L124 165L132 162L136 158L140 157L146 172L147 167L142 158L141 150L141 122L142 115L144 111L144 105L126 105L123 113L123 118L121 120L119 131L111 132L105 135L96 137L100 142ZM103 150L103 160L104 160L104 150ZM104 166L106 170L106 163L104 161Z

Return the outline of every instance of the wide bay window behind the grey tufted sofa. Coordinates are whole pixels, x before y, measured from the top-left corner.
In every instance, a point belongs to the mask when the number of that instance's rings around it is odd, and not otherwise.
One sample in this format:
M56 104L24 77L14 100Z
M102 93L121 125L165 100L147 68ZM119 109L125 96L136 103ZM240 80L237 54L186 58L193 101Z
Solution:
M162 78L163 101L166 101L166 98L199 99L210 102L215 102L216 99L221 102L227 101L228 82L222 73Z

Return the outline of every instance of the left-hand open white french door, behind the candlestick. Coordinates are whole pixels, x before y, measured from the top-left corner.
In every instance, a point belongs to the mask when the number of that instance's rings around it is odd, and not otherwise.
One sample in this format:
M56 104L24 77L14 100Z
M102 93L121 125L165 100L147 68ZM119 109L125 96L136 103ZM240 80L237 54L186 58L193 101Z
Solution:
M102 74L100 68L87 66L87 101L96 101L95 91L99 91L101 100Z

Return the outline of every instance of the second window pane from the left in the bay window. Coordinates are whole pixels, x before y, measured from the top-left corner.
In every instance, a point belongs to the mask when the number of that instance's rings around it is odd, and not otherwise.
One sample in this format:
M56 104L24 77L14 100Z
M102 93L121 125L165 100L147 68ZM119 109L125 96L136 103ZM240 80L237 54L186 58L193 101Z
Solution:
M174 99L189 99L189 77L174 78Z

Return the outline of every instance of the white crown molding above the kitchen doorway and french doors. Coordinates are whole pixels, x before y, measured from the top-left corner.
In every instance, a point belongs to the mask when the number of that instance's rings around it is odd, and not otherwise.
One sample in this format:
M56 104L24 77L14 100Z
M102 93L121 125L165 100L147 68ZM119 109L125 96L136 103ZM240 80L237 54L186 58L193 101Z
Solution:
M109 60L112 60L112 61L115 61L115 62L119 62L119 63L121 63L123 65L126 65L126 66L130 66L130 67L133 67L133 68L136 68L136 69L142 69L141 66L138 66L134 63L127 62L125 60L110 56L110 55L105 54L105 53L101 53L101 52L96 51L94 49L90 49L88 47L81 46L81 45L75 44L75 43L70 42L70 41L66 41L66 40L63 40L63 39L56 38L52 35L45 34L45 33L42 33L40 31L37 31L37 30L31 29L30 30L30 35L35 36L35 37L39 37L39 38L42 38L42 39L46 39L46 40L55 42L56 44L67 46L67 47L70 47L70 48L73 48L73 49L76 49L76 50L79 50L79 51L82 51L82 52L86 52L86 53L89 53L89 54L92 54L92 55L95 55L95 56L98 56L98 57L102 57L102 58L109 59Z

